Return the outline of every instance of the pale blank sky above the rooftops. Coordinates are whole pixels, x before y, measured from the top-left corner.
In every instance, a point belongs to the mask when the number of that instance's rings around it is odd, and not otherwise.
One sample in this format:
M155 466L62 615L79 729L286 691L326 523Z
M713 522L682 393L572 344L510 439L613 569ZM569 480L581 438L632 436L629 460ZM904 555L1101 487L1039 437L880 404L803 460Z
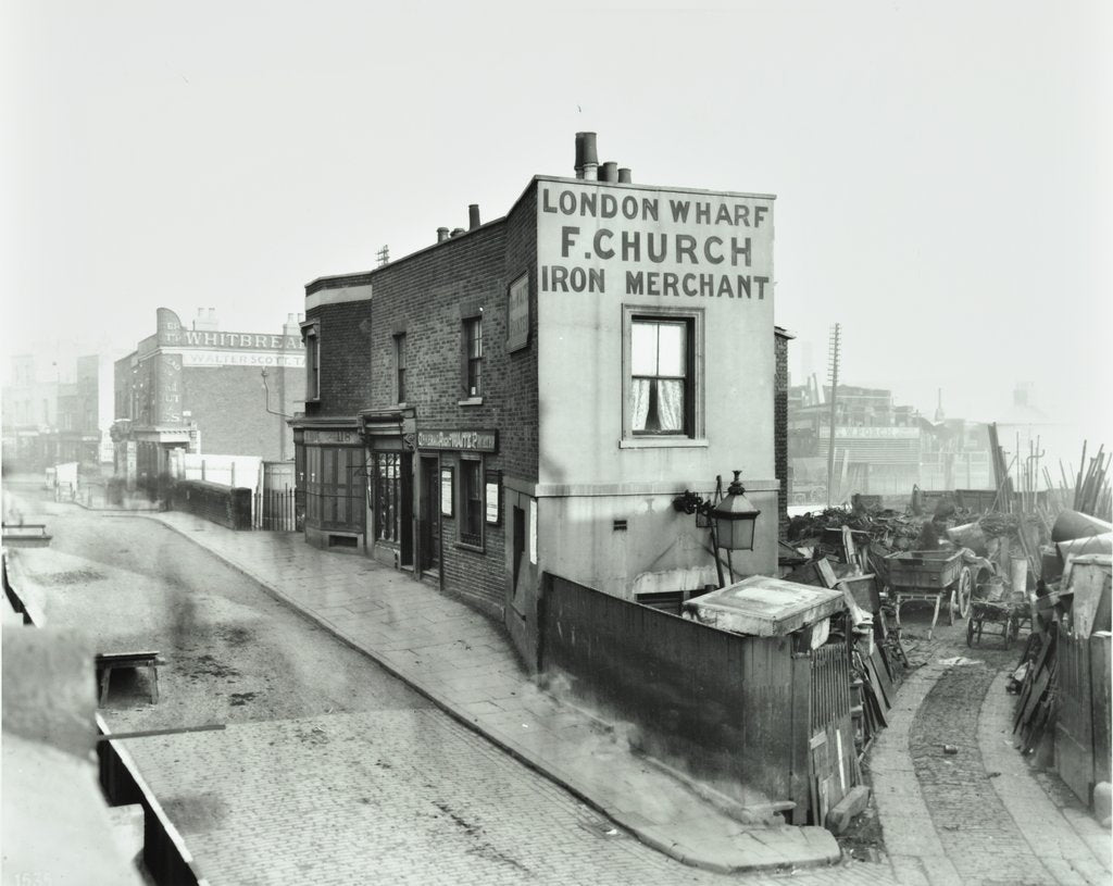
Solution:
M848 384L993 420L1032 381L1113 443L1110 3L402 6L3 3L4 353L126 352L159 305L277 331L594 130L634 181L778 195L796 381L840 322Z

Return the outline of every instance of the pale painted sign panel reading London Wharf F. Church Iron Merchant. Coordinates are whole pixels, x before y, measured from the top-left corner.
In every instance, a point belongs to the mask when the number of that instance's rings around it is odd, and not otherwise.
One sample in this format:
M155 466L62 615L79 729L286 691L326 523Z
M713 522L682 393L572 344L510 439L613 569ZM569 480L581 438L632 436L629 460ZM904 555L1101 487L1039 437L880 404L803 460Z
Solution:
M772 297L772 206L759 197L542 186L543 293Z

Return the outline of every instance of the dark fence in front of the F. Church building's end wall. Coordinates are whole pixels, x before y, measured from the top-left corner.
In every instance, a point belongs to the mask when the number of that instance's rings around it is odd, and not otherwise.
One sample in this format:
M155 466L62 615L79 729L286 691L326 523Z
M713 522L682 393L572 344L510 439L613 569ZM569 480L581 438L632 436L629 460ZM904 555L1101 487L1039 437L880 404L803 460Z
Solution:
M811 739L829 727L831 744L838 732L854 751L845 647L794 652L788 637L741 637L556 575L543 581L545 672L568 675L578 697L636 723L653 756L792 800L794 824L821 820L815 779L830 771L812 771ZM829 759L837 769L845 756ZM854 778L844 766L834 785Z

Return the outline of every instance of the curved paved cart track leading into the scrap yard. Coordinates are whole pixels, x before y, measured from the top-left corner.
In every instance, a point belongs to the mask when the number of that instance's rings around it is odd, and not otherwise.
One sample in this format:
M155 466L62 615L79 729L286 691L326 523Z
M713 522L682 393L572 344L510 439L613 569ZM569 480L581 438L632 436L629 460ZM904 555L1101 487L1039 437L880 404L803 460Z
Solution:
M954 636L961 627L951 630ZM944 633L946 633L944 629ZM889 859L908 886L1109 884L1110 834L1013 747L1017 652L946 644L914 671L867 758ZM943 651L943 654L940 654ZM957 754L944 752L952 745Z

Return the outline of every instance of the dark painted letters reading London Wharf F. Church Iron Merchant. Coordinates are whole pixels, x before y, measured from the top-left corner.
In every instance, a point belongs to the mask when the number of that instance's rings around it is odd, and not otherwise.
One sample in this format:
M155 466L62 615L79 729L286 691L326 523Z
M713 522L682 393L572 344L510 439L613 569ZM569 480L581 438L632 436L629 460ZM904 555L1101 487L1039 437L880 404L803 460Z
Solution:
M657 197L626 195L618 197L598 191L542 190L544 213L585 218L659 222L661 201ZM676 224L732 226L758 229L768 225L768 206L745 203L712 203L699 199L670 198L668 218ZM721 229L721 228L720 228ZM688 296L710 298L765 299L769 277L749 273L723 274L725 267L749 268L752 242L749 236L697 237L692 234L668 234L646 230L613 230L599 227L583 235L577 225L561 226L561 257L572 259L583 249L583 257L593 262L620 259L624 263L654 265L691 265L708 267L708 272L690 273L659 270L626 270L627 295ZM542 265L542 292L604 293L605 268L580 267L578 264Z

